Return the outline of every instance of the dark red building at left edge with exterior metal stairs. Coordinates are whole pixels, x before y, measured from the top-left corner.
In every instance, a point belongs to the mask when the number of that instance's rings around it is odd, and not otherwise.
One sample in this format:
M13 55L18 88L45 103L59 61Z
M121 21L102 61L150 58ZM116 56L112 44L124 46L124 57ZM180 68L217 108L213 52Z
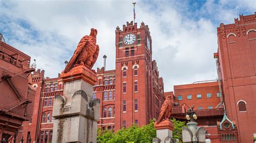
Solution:
M23 121L31 119L35 89L30 56L5 44L0 33L0 142L14 140Z

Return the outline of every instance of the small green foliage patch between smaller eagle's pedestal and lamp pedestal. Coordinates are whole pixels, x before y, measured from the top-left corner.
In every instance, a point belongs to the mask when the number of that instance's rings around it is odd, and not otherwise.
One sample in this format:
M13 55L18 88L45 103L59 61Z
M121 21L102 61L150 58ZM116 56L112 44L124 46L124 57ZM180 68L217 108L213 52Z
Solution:
M174 139L179 139L182 142L182 127L186 126L186 122L185 121L179 121L176 119L171 119L173 125L174 125L174 129L172 131L172 137Z

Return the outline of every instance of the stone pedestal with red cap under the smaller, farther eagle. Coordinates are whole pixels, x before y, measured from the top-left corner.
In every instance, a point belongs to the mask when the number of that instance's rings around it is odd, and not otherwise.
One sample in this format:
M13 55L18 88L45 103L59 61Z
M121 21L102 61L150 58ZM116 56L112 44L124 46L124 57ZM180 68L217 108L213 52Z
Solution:
M164 142L177 142L177 140L172 139L173 123L170 120L161 121L159 124L154 124L157 130L157 138L153 138L154 143L164 143Z

